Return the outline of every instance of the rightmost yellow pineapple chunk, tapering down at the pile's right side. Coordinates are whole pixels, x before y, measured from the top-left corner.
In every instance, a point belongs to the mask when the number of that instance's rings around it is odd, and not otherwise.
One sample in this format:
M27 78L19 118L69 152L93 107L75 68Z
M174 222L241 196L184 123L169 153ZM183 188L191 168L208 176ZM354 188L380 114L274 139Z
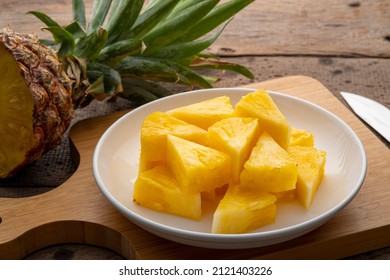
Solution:
M315 147L291 146L289 153L298 163L296 197L308 209L324 177L326 152Z

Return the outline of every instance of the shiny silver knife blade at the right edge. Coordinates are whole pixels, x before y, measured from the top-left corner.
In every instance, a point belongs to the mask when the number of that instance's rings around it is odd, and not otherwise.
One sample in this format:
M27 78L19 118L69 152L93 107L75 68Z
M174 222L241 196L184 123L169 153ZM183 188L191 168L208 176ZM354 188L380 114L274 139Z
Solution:
M390 110L384 105L350 92L340 92L352 110L390 142Z

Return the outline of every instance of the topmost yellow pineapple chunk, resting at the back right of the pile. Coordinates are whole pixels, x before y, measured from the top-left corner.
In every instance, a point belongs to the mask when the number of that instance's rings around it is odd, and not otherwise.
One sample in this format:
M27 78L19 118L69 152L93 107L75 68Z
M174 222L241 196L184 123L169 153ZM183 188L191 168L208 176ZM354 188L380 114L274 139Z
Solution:
M260 126L285 150L290 145L290 125L264 89L245 95L235 107L235 115L258 118Z

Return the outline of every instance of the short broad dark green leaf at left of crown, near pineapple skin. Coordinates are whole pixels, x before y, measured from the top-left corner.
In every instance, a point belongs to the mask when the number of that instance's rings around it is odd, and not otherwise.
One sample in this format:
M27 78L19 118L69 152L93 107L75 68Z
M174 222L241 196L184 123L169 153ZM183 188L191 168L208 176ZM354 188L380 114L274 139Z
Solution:
M77 43L74 55L86 57L89 60L96 59L106 45L107 38L107 31L103 28L98 28L95 32L90 33L85 39Z

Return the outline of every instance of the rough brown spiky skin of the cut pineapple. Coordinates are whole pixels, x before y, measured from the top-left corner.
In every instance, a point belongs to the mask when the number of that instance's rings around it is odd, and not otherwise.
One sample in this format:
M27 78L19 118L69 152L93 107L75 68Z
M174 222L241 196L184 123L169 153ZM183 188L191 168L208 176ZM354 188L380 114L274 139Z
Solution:
M0 29L0 44L16 60L34 103L31 149L26 151L24 161L5 176L10 177L60 143L74 113L73 82L55 52L40 43L37 36L4 28Z

